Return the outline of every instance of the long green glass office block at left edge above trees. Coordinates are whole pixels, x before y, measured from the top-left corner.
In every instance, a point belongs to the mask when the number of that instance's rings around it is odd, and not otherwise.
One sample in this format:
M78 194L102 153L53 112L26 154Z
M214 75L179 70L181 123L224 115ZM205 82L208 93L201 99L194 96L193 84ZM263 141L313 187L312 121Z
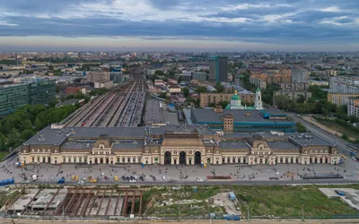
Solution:
M0 116L12 114L26 104L48 104L55 99L55 80L0 86Z

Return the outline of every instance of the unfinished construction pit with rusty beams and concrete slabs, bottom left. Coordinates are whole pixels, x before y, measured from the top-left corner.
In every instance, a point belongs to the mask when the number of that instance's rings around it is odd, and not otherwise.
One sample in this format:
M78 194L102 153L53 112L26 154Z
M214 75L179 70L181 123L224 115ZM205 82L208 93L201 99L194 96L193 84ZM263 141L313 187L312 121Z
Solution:
M2 211L21 216L141 216L143 192L115 187L23 188Z

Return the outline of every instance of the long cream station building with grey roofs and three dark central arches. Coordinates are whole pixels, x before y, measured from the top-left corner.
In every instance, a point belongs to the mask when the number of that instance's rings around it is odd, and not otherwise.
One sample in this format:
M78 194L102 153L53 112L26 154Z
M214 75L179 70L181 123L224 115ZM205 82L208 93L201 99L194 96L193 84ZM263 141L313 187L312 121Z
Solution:
M24 164L337 164L337 146L314 134L215 132L208 125L43 129L20 151Z

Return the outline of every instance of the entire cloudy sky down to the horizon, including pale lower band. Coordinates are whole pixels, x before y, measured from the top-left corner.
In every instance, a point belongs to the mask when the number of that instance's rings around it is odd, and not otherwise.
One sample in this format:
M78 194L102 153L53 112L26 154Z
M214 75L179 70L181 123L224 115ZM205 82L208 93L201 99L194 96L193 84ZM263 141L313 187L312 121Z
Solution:
M359 50L359 0L2 0L0 50Z

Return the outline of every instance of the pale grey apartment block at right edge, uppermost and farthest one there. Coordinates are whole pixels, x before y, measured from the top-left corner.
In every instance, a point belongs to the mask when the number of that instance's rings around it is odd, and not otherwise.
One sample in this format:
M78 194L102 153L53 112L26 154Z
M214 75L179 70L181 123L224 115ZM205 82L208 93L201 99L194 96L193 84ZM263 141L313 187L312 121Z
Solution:
M336 76L329 79L329 92L359 93L358 76Z

